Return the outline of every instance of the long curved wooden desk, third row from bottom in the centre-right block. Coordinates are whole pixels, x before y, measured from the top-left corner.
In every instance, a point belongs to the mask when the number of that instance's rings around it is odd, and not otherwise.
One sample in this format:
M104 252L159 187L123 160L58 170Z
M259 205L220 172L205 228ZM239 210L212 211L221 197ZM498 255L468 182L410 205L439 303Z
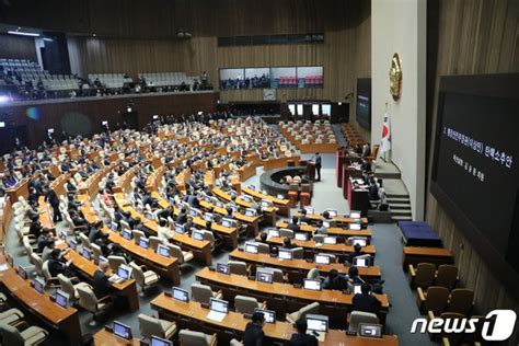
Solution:
M277 257L270 257L268 254L252 254L240 250L233 250L229 253L229 258L235 261L243 261L249 264L252 264L254 267L275 267L284 270L284 273L288 274L288 279L291 284L302 282L302 279L307 277L308 272L313 268L318 268L319 272L326 276L330 270L336 269L339 274L348 274L349 266L345 266L341 263L331 263L328 265L316 265L315 263L310 263L304 260L282 260L280 261ZM374 282L380 280L381 270L379 266L371 266L371 267L359 267L360 276L370 282Z

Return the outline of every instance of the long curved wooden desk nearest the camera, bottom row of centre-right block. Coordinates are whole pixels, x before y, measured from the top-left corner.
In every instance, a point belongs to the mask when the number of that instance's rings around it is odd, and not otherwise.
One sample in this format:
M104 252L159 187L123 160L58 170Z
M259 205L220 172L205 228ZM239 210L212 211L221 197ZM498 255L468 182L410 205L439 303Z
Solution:
M221 344L228 344L231 338L242 339L245 326L251 320L246 320L243 314L230 311L221 321L207 319L208 309L203 308L198 302L182 302L161 293L151 302L151 308L159 312L161 319L175 321L181 328L193 328L205 333L217 333ZM274 324L265 323L263 326L265 336L274 342L287 343L296 330L290 323L277 321ZM324 342L320 345L399 345L399 339L394 335L384 335L383 338L365 338L346 336L344 332L331 330Z

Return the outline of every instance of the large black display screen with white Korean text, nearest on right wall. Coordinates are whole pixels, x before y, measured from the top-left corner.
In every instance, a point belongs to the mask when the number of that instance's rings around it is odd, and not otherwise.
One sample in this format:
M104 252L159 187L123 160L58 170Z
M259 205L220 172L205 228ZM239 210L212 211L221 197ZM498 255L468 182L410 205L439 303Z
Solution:
M484 83L485 79L474 80L478 82ZM516 273L519 273L518 109L518 99L495 91L485 95L455 88L440 90L431 176L431 192L445 204L454 222L485 251L505 260Z

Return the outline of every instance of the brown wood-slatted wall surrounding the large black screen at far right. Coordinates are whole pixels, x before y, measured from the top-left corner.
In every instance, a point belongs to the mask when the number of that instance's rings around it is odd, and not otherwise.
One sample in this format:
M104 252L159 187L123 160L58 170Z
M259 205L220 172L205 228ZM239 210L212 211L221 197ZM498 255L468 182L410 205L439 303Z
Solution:
M437 0L439 4L437 72L434 89L430 134L435 132L438 77L443 74L477 74L519 71L519 1L517 0ZM429 134L429 135L430 135ZM434 136L430 136L434 140ZM430 143L429 160L434 142ZM430 169L431 163L429 164ZM430 171L429 171L430 176ZM482 201L484 203L484 201ZM496 308L515 309L519 302L511 296L516 288L504 287L482 261L470 241L457 229L451 218L428 193L427 221L438 230L445 246L455 255L462 286L474 289L480 313ZM509 341L519 341L518 328Z

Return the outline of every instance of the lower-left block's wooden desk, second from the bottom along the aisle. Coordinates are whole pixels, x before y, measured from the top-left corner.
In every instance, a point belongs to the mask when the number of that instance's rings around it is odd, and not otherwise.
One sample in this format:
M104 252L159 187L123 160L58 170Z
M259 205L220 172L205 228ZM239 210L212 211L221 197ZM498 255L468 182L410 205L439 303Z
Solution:
M97 266L92 261L88 261L79 253L73 250L70 250L67 254L64 255L64 258L69 261L72 260L72 266L80 270L84 277L92 280L94 277ZM134 279L126 280L120 284L112 284L112 287L126 297L128 300L128 305L130 312L137 311L139 309L139 296L137 293L137 284Z

